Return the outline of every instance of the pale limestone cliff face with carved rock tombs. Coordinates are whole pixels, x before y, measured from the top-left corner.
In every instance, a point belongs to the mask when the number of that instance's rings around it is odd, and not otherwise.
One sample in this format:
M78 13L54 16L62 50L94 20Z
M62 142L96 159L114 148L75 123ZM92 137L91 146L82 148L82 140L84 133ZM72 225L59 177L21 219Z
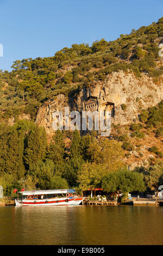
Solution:
M70 111L111 111L112 124L130 124L137 120L142 109L154 106L163 100L163 77L159 83L143 74L139 79L132 72L112 72L104 82L94 82L80 90L75 100L68 102L64 95L49 100L36 117L36 123L45 127L47 134L54 134L53 112L70 107ZM65 118L65 117L64 117Z

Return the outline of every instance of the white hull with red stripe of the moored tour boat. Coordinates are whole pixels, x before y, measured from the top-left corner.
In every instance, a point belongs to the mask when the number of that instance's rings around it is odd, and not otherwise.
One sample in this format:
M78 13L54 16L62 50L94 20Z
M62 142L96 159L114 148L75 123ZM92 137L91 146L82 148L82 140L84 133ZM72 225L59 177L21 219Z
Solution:
M16 206L59 206L59 205L79 205L84 197L78 198L58 198L47 200L15 200Z

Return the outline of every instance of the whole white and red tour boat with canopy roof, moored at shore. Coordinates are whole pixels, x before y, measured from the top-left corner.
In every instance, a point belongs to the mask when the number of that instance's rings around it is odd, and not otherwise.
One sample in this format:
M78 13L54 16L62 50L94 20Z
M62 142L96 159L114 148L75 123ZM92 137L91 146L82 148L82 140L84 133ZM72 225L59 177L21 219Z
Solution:
M16 206L79 205L85 197L74 195L75 190L34 190L18 192L22 196L15 200Z

